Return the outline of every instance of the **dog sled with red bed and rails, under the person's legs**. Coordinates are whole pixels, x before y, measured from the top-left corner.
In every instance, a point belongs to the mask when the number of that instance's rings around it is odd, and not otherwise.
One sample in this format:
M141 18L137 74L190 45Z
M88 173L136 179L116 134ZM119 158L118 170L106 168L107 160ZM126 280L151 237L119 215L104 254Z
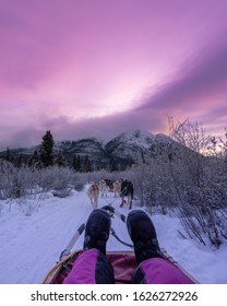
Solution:
M126 215L121 214L111 205L103 207L101 209L109 212L109 214L113 217L117 215L122 222L126 223ZM72 248L80 237L80 235L84 232L86 223L83 223L71 238L67 248L60 254L59 261L50 269L50 271L45 276L43 284L62 284L64 279L69 275L75 260L83 252L82 249L73 250ZM113 267L115 271L115 282L116 284L130 284L132 274L136 268L135 256L133 251L133 245L130 245L119 238L116 234L115 229L110 229L110 234L122 245L131 248L131 250L121 250L121 251L107 251L106 256L109 262ZM169 260L171 263L177 266L193 283L199 283L188 271L186 271L175 259L169 256L169 254L160 248L163 258Z

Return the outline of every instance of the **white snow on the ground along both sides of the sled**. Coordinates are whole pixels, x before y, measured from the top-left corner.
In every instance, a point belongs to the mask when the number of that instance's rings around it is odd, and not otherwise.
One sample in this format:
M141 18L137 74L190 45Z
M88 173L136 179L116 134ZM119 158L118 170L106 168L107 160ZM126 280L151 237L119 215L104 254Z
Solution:
M24 213L26 204L36 205L33 213ZM112 203L123 214L128 208L119 208L120 199L108 193L99 200L99 207ZM139 209L134 203L134 209ZM29 211L28 211L29 212ZM58 261L60 252L67 247L77 227L87 220L92 207L85 190L73 191L68 198L60 199L48 193L38 202L27 200L0 201L0 283L38 284ZM194 240L184 239L180 221L169 215L151 215L159 240L165 248L188 272L203 284L227 283L227 245L218 250L202 246ZM117 216L112 227L127 243L130 237L126 224ZM73 249L83 246L83 234ZM107 250L126 250L127 247L110 236Z

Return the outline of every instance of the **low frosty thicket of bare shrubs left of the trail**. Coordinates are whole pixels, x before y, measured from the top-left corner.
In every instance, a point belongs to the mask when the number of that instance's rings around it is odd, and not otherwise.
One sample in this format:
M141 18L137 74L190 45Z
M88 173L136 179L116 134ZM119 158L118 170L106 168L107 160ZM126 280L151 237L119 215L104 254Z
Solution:
M0 161L0 199L9 199L25 215L31 215L40 207L41 200L52 191L57 197L68 197L80 177L70 168L52 166L37 169L27 166L14 167ZM84 181L80 180L83 186Z

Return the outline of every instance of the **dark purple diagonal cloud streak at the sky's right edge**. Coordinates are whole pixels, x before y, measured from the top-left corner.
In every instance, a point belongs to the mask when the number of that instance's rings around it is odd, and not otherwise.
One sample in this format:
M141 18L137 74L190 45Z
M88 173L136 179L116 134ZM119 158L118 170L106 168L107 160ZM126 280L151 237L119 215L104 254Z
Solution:
M176 79L146 96L139 109L192 110L207 106L211 97L219 94L227 97L227 44L201 50L183 64Z

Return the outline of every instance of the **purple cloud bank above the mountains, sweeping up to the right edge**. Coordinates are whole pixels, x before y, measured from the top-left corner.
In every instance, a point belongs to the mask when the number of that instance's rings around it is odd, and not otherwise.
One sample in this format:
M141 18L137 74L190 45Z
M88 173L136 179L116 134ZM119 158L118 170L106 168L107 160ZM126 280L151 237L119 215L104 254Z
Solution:
M186 68L187 67L187 68ZM188 62L178 76L159 86L155 94L142 97L135 109L103 117L72 119L51 111L36 119L36 127L24 125L16 132L9 131L1 137L2 146L35 145L46 130L51 130L56 140L74 140L84 137L99 137L108 140L124 130L141 129L150 132L167 132L167 115L177 119L200 118L210 128L220 129L226 119L227 101L227 44L210 48ZM218 103L217 103L218 102ZM55 105L53 105L55 107ZM49 109L50 110L50 109ZM94 111L95 115L95 111ZM180 118L181 117L181 118ZM3 148L3 149L4 149Z

